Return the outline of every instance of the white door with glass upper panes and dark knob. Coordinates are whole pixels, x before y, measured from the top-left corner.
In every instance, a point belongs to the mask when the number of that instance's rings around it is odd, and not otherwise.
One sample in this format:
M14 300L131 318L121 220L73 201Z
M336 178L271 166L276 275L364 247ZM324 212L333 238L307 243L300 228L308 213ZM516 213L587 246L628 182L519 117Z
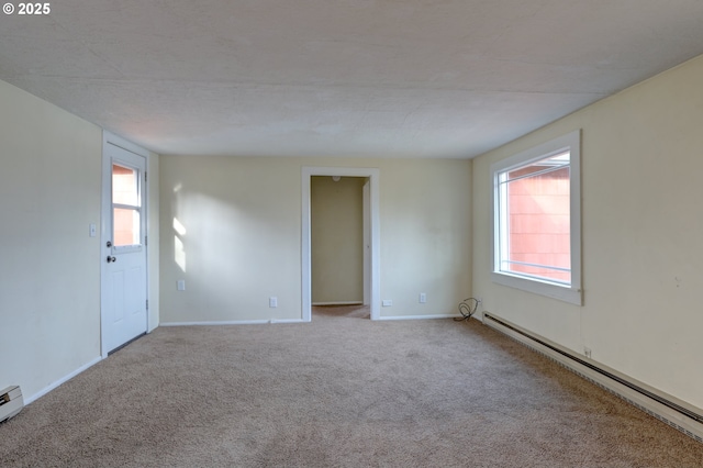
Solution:
M103 145L102 354L147 331L146 158Z

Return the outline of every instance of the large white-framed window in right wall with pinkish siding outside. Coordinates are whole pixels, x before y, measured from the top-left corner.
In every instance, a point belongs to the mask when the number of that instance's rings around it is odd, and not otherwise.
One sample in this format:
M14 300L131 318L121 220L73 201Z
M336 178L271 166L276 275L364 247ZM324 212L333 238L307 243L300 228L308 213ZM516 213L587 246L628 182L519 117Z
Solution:
M581 304L580 131L491 166L493 280Z

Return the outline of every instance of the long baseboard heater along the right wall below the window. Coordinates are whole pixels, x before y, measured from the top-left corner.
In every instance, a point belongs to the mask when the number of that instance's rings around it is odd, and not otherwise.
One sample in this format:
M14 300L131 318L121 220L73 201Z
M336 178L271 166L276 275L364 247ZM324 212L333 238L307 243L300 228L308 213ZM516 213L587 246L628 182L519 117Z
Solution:
M703 411L700 409L678 401L674 397L665 395L646 383L637 382L592 359L576 356L556 343L527 332L492 313L483 313L483 323L703 443Z

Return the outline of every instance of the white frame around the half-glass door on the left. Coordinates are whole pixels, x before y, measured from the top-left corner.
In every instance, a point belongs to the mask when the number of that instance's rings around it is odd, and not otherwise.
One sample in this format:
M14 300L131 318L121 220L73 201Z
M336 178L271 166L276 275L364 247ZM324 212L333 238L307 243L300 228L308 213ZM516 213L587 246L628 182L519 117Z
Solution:
M110 161L110 157L108 157L108 145L119 146L122 149L126 149L127 152L137 154L140 156L144 156L146 159L146 168L149 166L149 152L142 148L141 146L135 145L132 142L129 142L121 136L114 135L113 133L108 132L107 130L102 131L102 201L101 201L101 218L100 218L100 294L102 298L105 297L104 288L105 288L105 255L103 255L105 250L105 243L112 239L111 226L109 226L109 222L105 219L105 213L110 213L112 211L112 198L107 197L107 187L112 187L112 164ZM148 237L148 186L145 185L144 190L142 192L143 204L142 212L144 213L144 231L145 235ZM149 255L148 255L148 244L144 245L146 252L146 300L148 302L149 299ZM102 300L100 303L100 354L102 358L108 357L108 353L111 349L108 349L108 339L107 336L107 324L108 317L107 308L102 304ZM149 323L149 311L146 311L146 331L150 330Z

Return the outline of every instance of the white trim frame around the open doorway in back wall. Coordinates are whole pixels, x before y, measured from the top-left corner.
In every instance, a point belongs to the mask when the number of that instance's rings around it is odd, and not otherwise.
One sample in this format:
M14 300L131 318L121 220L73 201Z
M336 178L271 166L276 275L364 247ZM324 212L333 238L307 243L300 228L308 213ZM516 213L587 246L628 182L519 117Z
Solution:
M310 232L310 183L313 176L368 177L370 182L370 309L371 320L379 320L381 292L380 197L378 168L366 167L310 167L302 168L302 320L312 320L312 257Z

